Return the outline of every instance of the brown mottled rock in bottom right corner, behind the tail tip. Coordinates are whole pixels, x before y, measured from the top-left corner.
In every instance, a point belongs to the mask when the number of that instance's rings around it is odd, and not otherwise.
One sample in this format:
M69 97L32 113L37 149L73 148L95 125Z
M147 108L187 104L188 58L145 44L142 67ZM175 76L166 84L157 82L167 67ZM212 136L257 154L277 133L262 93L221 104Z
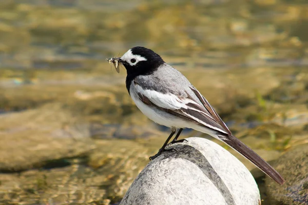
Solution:
M266 193L271 204L308 204L308 144L286 152L274 168L285 178L285 185L280 186L266 177Z

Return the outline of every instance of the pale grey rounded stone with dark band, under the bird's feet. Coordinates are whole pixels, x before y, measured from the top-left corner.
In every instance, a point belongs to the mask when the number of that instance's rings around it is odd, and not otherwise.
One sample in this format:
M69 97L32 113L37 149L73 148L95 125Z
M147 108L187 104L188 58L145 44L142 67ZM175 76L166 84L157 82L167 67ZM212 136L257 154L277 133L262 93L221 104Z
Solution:
M187 140L150 161L120 204L259 204L257 183L235 156L208 139Z

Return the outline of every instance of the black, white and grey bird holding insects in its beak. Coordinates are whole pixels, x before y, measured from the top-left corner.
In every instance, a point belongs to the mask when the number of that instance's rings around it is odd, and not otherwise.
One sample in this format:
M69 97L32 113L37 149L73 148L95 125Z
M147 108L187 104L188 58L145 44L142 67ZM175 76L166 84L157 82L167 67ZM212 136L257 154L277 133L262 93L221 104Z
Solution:
M166 64L160 55L144 47L133 47L122 57L110 58L109 62L116 65L117 71L118 63L126 68L126 88L141 112L156 123L171 128L171 134L162 148L150 159L155 159L164 151L174 150L165 147L177 129L179 131L171 144L184 141L178 140L182 130L192 128L225 142L283 185L283 177L234 137L205 97L184 75Z

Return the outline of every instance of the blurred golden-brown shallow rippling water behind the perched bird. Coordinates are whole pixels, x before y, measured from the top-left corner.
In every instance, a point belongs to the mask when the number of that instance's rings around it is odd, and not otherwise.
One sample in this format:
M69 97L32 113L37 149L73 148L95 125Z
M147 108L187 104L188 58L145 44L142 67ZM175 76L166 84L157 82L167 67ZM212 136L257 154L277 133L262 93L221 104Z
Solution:
M180 70L264 159L306 145L307 44L305 0L1 1L0 204L121 200L169 134L106 61L137 45ZM224 147L269 204L264 176Z

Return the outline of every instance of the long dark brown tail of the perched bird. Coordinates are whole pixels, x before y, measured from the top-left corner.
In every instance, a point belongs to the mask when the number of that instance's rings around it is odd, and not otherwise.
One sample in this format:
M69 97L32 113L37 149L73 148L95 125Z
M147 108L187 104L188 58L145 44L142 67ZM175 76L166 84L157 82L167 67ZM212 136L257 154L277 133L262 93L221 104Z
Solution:
M228 146L239 152L246 159L254 163L260 170L262 170L266 175L274 179L280 185L283 185L285 182L284 178L269 165L264 159L262 159L257 153L255 153L252 149L248 148L243 142L241 142L238 138L229 134L217 134L220 140L225 142Z

